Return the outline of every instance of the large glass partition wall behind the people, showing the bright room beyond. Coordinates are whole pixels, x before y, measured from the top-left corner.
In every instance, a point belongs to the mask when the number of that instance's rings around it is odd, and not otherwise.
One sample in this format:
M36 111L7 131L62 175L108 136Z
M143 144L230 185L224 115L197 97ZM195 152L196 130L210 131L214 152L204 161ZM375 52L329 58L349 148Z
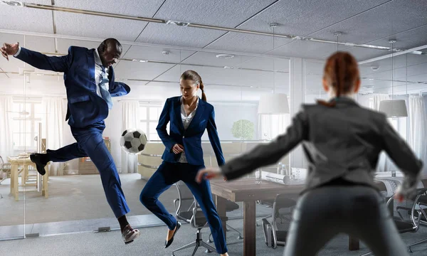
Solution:
M51 38L6 34L1 34L1 39L25 42L21 46L48 55L63 55L72 45L87 48L98 45L58 39L55 46ZM103 137L130 206L128 220L135 227L159 225L142 206L139 193L162 163L164 145L159 141L156 127L165 100L180 95L179 78L185 70L195 70L204 81L207 101L215 108L216 128L226 161L286 132L301 103L329 98L322 89L323 60L238 54L221 58L219 50L208 53L148 46L123 45L123 48L124 54L114 66L115 78L130 85L132 90L125 97L114 98ZM427 154L419 143L425 128L421 121L426 113L426 63L426 55L413 53L363 63L362 88L356 97L360 105L375 110L379 110L382 100L405 100L408 117L389 121L420 157ZM0 239L119 228L90 158L51 163L48 176L43 177L25 162L28 153L58 149L75 142L65 122L68 102L63 74L24 70L28 65L15 58L8 63L1 58L0 65L6 67L0 73L0 118L6 120L0 122L0 140L6 142L1 144L0 152L5 163L0 174L4 178L0 183ZM126 129L142 129L147 134L149 142L141 154L130 155L122 150L120 137ZM207 132L201 141L205 165L217 166ZM16 167L11 166L13 157L17 157ZM277 164L258 169L245 178L255 183L258 174L270 181L284 176L303 181L306 169L302 151L296 148ZM395 170L396 166L381 156L378 171L389 175L388 172ZM170 213L175 211L176 196L176 188L172 186L159 198ZM271 212L265 202L257 203L257 215ZM238 206L227 213L229 218L243 216L243 204L238 202Z

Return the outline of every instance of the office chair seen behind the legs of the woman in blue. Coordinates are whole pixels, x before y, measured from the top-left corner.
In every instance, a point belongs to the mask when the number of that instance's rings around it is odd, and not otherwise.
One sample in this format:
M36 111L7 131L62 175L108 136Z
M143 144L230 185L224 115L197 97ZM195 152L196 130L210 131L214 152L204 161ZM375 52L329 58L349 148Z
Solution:
M199 247L205 247L206 252L215 252L216 249L208 245L201 238L201 229L209 227L208 221L204 216L204 213L201 211L199 203L197 203L196 198L194 198L193 194L186 186L186 184L182 181L178 181L175 183L176 189L178 191L178 198L174 200L175 213L176 218L182 220L186 223L189 223L192 228L196 228L196 241L189 243L188 245L184 245L179 247L178 249L172 252L172 256L174 256L174 252L179 250L184 250L186 248L194 247L193 254L196 254L196 251ZM178 206L176 206L178 203ZM226 217L221 217L221 220L226 221Z

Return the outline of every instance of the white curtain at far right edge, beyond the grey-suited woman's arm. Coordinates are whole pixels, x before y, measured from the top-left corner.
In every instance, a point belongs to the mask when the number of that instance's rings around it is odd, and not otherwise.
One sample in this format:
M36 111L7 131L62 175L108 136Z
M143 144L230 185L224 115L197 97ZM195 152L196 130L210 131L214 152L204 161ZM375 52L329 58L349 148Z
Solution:
M423 172L426 174L427 147L425 142L427 137L427 113L422 96L409 97L408 117L410 121L408 143L416 156L425 163Z

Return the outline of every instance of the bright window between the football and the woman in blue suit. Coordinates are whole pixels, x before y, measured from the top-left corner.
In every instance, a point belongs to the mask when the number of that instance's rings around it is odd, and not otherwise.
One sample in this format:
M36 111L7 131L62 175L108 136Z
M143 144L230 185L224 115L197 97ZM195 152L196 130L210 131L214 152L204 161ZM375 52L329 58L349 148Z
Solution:
M160 104L139 105L139 128L147 134L147 139L149 141L160 140L156 127L162 109L163 107Z

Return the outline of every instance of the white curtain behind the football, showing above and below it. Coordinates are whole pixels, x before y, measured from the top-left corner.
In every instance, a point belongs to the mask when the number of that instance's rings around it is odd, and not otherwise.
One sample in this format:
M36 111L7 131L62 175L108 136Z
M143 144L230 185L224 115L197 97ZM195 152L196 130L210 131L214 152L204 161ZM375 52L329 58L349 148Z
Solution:
M139 102L124 100L120 103L122 103L122 131L137 129L139 127ZM137 169L137 156L122 151L122 173L136 173Z

